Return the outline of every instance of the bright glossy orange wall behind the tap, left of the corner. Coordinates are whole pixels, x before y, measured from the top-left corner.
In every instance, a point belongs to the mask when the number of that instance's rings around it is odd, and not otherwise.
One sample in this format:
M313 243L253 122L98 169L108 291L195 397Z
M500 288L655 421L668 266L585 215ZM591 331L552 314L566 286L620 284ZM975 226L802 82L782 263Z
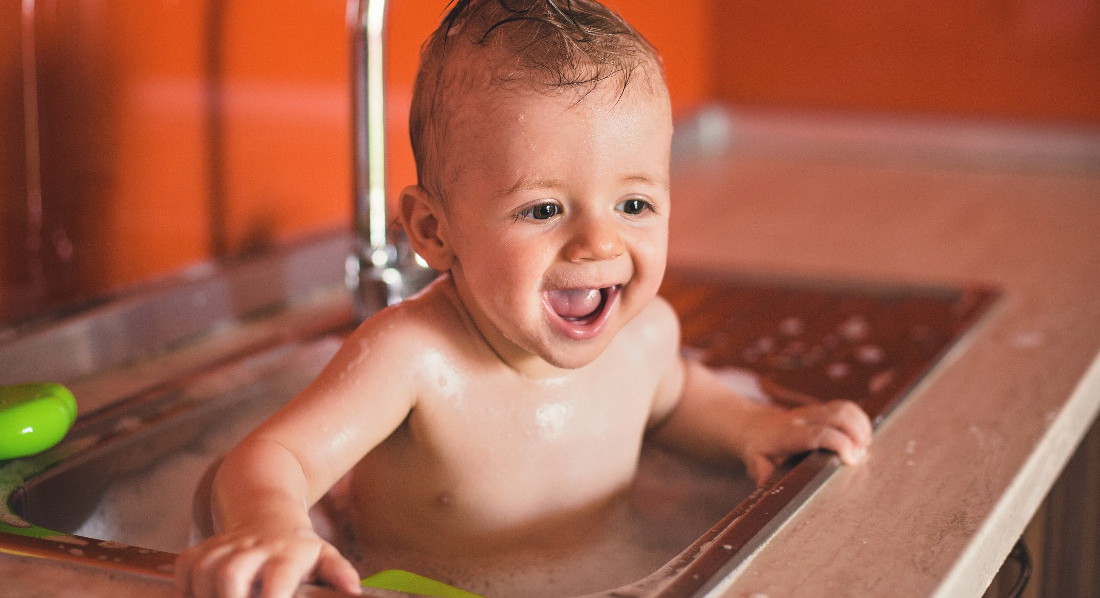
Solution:
M666 49L678 110L705 93L705 2L618 0ZM415 180L420 41L447 0L389 2L389 180ZM350 221L341 0L40 0L0 9L0 322ZM664 26L675 19L678 27ZM32 48L41 217L23 162Z

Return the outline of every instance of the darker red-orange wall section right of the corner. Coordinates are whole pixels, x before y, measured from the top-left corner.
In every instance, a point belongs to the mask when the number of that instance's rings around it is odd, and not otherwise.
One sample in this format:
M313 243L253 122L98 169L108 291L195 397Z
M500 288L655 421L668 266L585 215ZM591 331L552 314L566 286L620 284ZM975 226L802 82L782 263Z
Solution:
M715 0L734 103L1100 124L1097 0Z

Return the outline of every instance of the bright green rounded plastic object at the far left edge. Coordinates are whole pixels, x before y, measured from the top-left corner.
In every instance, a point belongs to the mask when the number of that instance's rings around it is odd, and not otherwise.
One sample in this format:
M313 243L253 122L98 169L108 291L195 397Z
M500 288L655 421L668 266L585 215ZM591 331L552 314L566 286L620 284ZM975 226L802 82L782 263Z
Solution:
M76 421L76 399L59 384L0 386L0 459L41 453Z

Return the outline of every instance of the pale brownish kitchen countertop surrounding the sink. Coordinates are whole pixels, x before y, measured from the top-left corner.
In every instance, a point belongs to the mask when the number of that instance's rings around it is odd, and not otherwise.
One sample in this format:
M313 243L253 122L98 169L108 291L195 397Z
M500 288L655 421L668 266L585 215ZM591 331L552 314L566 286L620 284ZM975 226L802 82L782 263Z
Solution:
M980 596L1100 409L1100 134L711 111L673 198L673 267L1003 294L719 595ZM4 590L170 595L38 563Z

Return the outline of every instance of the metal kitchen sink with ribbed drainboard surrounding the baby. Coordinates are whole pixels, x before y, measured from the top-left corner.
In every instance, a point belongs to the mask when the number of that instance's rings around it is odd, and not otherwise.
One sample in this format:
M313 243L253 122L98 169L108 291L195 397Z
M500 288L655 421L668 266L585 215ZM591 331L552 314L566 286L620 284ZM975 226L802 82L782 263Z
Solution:
M850 398L876 423L959 346L996 297L977 287L690 270L670 273L662 292L681 314L685 352L730 384L748 380L748 392L792 400ZM327 313L324 325L274 326L253 335L261 341L229 343L228 356L188 362L205 365L162 368L172 374L85 410L51 451L0 462L0 552L169 576L191 540L199 478L320 370L352 325L344 302L342 295L320 308L280 300L282 318L307 309ZM272 311L261 313L265 320ZM744 472L647 447L635 491L657 508L629 533L663 528L667 539L624 542L637 552L636 571L601 595L707 595L837 466L834 456L810 454L754 489Z

